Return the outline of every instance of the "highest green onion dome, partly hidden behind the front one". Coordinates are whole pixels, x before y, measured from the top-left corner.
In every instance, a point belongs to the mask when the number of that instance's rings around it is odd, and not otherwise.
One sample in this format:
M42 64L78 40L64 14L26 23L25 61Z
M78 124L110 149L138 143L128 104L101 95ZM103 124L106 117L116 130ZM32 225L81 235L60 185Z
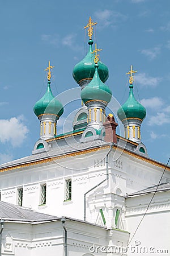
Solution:
M90 47L87 55L84 57L82 61L76 64L73 69L73 78L80 86L88 84L88 82L92 80L95 73L94 54L92 53L93 43L93 40L90 39L88 42ZM105 82L109 77L108 67L101 61L99 61L98 65L100 79L101 81Z

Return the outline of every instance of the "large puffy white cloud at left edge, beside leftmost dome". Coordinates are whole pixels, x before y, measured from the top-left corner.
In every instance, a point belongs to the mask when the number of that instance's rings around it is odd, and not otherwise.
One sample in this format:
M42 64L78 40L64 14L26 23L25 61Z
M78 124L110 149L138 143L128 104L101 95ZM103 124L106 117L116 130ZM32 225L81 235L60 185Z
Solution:
M9 142L13 147L20 146L27 138L28 128L24 125L23 115L10 119L0 119L0 142Z

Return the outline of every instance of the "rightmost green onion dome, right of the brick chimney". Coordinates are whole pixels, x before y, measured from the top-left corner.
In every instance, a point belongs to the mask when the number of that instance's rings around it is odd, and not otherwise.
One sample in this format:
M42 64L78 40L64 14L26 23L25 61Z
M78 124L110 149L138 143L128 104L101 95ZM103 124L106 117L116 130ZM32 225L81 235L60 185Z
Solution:
M128 118L139 118L143 120L146 117L146 109L137 100L133 94L133 85L129 85L129 97L124 105L117 111L118 118L123 121Z

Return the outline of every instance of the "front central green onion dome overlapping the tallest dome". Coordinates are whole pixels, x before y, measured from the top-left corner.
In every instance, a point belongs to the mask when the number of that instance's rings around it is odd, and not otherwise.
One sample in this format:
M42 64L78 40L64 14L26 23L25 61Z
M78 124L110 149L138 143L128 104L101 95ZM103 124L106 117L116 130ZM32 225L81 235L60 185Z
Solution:
M108 104L111 101L112 91L100 80L98 68L99 66L95 64L94 77L81 92L84 104L88 101L104 101Z

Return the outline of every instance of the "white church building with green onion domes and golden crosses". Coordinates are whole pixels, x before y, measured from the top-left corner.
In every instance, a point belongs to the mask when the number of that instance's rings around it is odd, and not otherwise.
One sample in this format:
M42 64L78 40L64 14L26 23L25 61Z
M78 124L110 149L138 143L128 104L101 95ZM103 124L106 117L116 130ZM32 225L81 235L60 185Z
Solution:
M170 254L170 166L142 142L146 109L133 93L132 65L126 102L106 115L113 94L95 24L84 27L89 49L73 68L82 99L73 129L57 133L67 106L52 93L49 61L46 92L33 106L40 138L31 155L0 166L0 256Z

